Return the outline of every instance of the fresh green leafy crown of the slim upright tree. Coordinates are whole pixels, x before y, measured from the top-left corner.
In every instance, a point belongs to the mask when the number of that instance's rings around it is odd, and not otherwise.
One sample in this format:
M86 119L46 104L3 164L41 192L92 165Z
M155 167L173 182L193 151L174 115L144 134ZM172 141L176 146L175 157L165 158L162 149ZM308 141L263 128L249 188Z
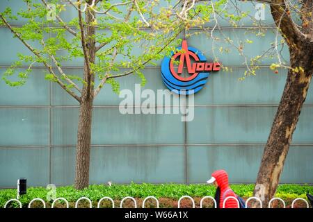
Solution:
M51 8L45 6L45 3L54 4L56 8L54 19L48 19ZM80 3L83 8L85 1ZM114 6L108 1L99 1L97 6L90 6L86 12L82 12L83 25L96 28L95 35L86 36L86 41L93 40L96 47L99 47L95 63L90 64L95 80L101 81L104 76L111 76L106 83L112 85L114 92L118 92L118 79L113 80L113 78L115 75L131 71L131 74L141 78L142 85L144 85L145 76L140 69L149 64L156 65L157 60L175 50L181 42L179 34L182 33L186 24L177 19L174 13L175 3L176 1L166 1L166 4L161 1L150 3L137 1L138 6L136 6L135 2L121 1L120 5ZM8 24L15 20L23 21L22 26L12 26L15 32L13 37L22 38L33 49L29 50L28 54L17 52L19 60L1 76L8 85L16 87L24 85L31 74L31 67L42 65L43 62L47 63L46 67L61 69L65 66L65 62L72 60L81 61L77 64L78 67L84 65L78 4L76 3L75 6L68 1L61 0L27 0L21 2L20 10L14 15L11 8L0 11L0 22L3 26L7 25L3 19L6 19ZM93 10L104 13L95 13L93 22L87 24L85 13ZM68 11L74 12L69 14L74 17L70 21L64 19L60 21L59 18L62 19ZM192 17L193 15L190 14L190 22L195 22ZM149 28L147 28L147 21L150 23ZM68 29L71 29L72 33ZM35 53L38 53L40 58ZM26 69L26 71L17 74L18 69ZM57 69L55 72L54 75L49 71L45 78L53 82L59 78L67 89L73 87L73 83L77 85L85 83L82 70L77 76L68 76L65 71L61 73ZM72 80L72 83L69 80ZM95 83L91 85L97 87ZM99 85L99 88L102 87L104 85Z

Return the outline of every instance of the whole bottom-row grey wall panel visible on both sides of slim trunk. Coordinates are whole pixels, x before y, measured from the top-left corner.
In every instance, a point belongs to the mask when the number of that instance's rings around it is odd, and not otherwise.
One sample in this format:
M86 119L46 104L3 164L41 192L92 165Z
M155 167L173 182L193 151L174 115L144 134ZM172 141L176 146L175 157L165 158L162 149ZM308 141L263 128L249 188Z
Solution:
M75 152L74 147L52 149L51 182L74 183ZM93 147L90 152L90 184L184 182L182 146Z

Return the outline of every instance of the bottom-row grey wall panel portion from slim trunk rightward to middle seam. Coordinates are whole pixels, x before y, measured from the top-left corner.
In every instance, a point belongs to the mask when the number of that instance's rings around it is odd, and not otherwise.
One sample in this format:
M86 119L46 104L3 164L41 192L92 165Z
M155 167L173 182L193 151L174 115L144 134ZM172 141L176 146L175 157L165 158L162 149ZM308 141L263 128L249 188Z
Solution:
M184 182L182 146L93 148L90 182Z

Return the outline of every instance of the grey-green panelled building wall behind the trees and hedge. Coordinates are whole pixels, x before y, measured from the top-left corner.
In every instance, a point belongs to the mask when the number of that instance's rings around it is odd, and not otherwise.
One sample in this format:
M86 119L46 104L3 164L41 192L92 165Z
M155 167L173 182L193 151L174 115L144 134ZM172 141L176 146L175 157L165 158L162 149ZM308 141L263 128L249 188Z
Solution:
M255 15L255 4L239 2ZM18 9L18 1L1 1ZM257 56L275 41L273 19L266 8L264 36L245 34L253 26L243 19L234 28L223 21L223 35L234 41L249 39L249 56ZM71 15L67 10L68 17ZM74 12L73 12L74 13ZM13 25L21 25L23 21ZM190 32L198 31L192 29ZM216 35L220 33L216 32ZM27 49L6 27L0 27L0 73ZM200 49L210 60L213 51L232 71L210 74L196 93L193 121L181 114L120 114L122 99L106 85L94 103L90 184L204 183L216 169L225 169L232 183L255 182L264 144L280 102L287 71L274 74L263 60L256 76L239 81L246 70L238 51L220 53L207 35L193 35L188 45ZM136 49L140 53L140 49ZM288 60L288 51L282 55ZM67 74L82 74L82 60L65 62ZM143 89L166 89L161 61L143 70ZM26 68L26 67L25 67ZM119 79L121 89L131 89L141 80ZM136 105L136 104L134 104ZM138 105L138 104L137 104ZM33 68L22 87L0 81L0 188L15 187L25 177L31 186L72 185L75 171L79 104L55 83L45 80L44 67ZM284 166L282 183L313 183L313 89L310 88Z

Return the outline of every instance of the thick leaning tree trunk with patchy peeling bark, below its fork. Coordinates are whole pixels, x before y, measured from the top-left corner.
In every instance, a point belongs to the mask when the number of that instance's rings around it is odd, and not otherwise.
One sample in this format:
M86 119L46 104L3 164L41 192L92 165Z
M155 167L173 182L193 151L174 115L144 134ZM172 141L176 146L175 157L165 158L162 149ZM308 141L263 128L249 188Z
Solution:
M312 51L312 47L309 46L304 46L302 49L289 48L293 69L288 71L284 92L264 148L254 190L254 196L263 201L264 207L267 207L268 201L275 195L289 144L307 96L312 78Z

